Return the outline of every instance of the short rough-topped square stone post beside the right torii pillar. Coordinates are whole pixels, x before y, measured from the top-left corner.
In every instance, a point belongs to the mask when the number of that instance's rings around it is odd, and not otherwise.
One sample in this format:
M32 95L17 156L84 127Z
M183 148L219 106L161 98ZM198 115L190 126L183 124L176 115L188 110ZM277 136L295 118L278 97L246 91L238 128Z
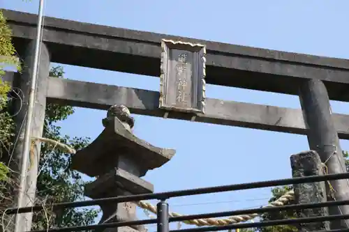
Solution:
M292 177L323 175L323 166L318 153L305 151L290 157ZM325 182L304 183L293 185L295 204L322 203L327 201ZM297 211L298 217L327 216L327 208L312 208ZM329 222L313 222L300 224L299 232L329 230Z

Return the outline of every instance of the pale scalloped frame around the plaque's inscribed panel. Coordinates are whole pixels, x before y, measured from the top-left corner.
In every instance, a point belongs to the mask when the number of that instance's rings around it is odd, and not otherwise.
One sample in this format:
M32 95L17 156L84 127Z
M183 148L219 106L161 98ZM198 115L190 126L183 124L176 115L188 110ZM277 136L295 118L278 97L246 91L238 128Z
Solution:
M188 52L196 53L197 55L201 54L200 59L197 59L196 69L202 69L200 73L202 75L197 75L196 78L192 78L192 83L195 84L194 88L194 98L196 107L179 107L175 105L170 105L167 103L167 89L168 89L168 61L170 61L170 49L180 49ZM200 67L201 66L201 67ZM184 41L174 41L174 40L161 40L161 75L160 75L160 99L159 99L159 108L169 110L169 111L182 111L186 113L193 114L205 114L205 77L206 77L206 46L202 44L194 44L191 42ZM193 97L192 97L193 98Z

